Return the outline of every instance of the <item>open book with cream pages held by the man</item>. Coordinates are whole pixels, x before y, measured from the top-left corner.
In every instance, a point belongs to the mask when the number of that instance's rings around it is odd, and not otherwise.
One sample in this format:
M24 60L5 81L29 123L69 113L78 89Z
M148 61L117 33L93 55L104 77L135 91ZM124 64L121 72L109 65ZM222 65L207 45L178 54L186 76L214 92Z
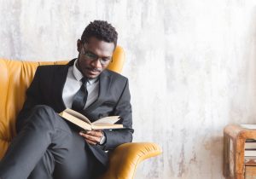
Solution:
M99 118L95 122L91 123L90 120L86 118L83 114L69 108L59 113L59 115L62 118L67 119L69 122L78 125L84 130L107 130L124 128L123 124L115 124L117 121L119 121L119 116Z

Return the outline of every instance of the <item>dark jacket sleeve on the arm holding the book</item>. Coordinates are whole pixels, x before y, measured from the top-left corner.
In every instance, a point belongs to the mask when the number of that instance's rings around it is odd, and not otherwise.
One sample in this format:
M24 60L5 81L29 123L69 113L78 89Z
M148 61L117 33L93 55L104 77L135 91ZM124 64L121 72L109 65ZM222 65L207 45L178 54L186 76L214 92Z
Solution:
M107 141L103 145L104 150L114 149L122 143L132 141L132 112L131 95L128 79L126 79L125 88L119 97L119 101L113 110L113 115L120 116L120 123L124 125L122 130L104 130Z

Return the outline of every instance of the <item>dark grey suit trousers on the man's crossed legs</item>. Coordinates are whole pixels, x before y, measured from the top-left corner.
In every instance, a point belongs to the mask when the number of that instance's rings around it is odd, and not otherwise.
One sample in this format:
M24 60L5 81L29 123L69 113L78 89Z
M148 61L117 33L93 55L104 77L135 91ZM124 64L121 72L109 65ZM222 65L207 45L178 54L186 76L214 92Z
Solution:
M2 179L91 179L105 170L79 130L37 106L0 162Z

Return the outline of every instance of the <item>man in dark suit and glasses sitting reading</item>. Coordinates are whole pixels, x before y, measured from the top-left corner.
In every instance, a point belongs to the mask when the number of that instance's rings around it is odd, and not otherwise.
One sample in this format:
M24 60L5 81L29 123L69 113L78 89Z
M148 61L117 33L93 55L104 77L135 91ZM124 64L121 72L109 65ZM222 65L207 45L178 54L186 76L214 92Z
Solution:
M128 79L106 69L117 37L107 21L95 20L77 42L77 59L38 66L0 178L96 178L108 167L107 151L132 140ZM58 115L67 107L91 121L119 115L125 129L81 131Z

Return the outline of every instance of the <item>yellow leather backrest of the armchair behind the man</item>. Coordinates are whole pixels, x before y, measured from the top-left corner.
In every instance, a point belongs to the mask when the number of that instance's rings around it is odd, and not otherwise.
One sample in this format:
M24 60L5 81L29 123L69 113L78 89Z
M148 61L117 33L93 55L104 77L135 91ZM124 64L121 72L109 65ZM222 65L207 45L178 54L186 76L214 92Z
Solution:
M121 72L125 62L125 53L117 47L113 61L108 69ZM0 159L15 136L16 116L26 99L26 90L38 66L67 64L67 61L11 61L0 59Z

